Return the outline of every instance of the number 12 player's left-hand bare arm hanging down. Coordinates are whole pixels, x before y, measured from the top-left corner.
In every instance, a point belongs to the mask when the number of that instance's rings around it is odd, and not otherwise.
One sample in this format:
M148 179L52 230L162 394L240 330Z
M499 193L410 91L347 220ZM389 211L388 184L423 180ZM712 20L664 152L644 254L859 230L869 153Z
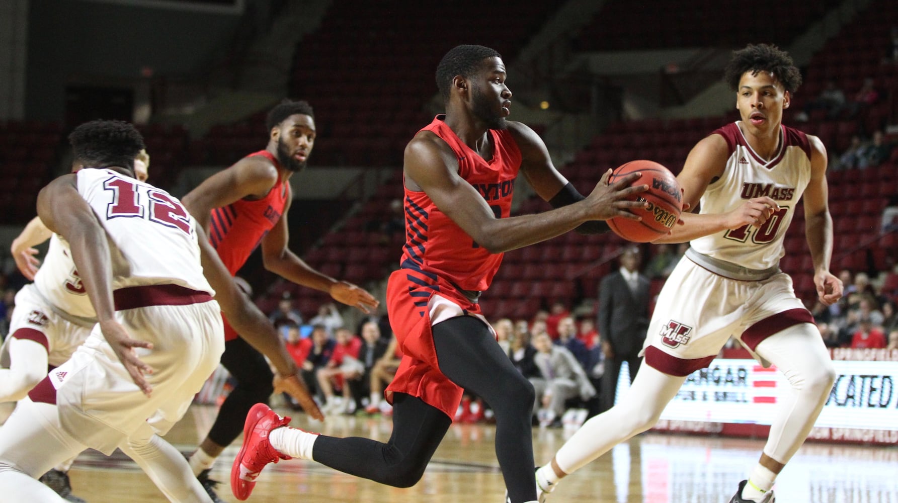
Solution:
M137 358L134 349L152 349L153 344L131 339L125 327L115 319L110 266L112 260L106 231L78 193L75 183L75 174L66 174L40 190L38 216L50 231L66 238L75 268L78 269L87 296L97 312L97 322L103 337L128 370L134 383L149 395L153 388L144 375L152 374L153 369Z

